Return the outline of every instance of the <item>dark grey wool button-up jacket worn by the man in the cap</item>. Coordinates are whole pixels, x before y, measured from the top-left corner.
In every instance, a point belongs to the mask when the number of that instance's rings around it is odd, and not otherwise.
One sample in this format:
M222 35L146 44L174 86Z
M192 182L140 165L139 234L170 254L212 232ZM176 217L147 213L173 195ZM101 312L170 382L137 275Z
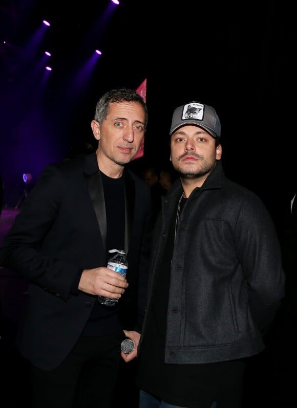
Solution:
M176 220L180 180L156 221L146 318L169 225ZM225 177L221 162L187 199L171 266L165 359L200 364L258 354L284 297L285 275L274 223L262 200Z

